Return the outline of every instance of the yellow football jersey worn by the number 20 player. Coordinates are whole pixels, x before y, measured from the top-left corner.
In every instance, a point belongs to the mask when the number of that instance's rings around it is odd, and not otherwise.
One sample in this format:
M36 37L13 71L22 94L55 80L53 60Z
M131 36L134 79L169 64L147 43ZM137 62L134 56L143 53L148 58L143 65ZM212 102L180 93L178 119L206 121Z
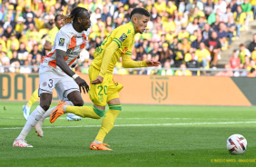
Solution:
M103 41L103 44L101 46L97 47L94 52L94 61L92 62L92 65L100 70L101 65L103 63L103 55L105 52L105 49L108 47L109 44L112 42L115 42L119 45L119 49L113 53L112 59L107 67L107 74L113 74L113 67L118 61L118 59L122 56L123 59L130 58L132 55L132 48L134 44L134 25L133 22L129 22L126 25L121 25L117 28L115 28L111 34L109 34ZM124 57L128 56L128 57Z

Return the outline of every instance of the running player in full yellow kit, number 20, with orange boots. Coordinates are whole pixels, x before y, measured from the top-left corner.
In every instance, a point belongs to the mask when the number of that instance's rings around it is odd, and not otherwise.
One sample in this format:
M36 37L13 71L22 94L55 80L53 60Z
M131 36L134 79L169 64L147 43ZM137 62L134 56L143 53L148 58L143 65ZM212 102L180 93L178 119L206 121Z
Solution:
M141 62L131 60L134 35L143 34L150 14L143 8L134 8L130 17L131 21L128 24L114 29L94 52L94 61L89 68L91 86L89 95L94 107L74 107L66 103L59 103L50 117L50 122L54 123L64 113L74 113L84 118L94 119L100 119L105 115L100 131L90 146L92 150L112 151L106 147L107 144L103 143L103 139L113 129L114 120L122 111L119 92L123 89L123 85L113 81L113 67L118 59L122 57L124 68L158 66L160 64L153 60ZM107 113L105 113L106 103L109 105Z

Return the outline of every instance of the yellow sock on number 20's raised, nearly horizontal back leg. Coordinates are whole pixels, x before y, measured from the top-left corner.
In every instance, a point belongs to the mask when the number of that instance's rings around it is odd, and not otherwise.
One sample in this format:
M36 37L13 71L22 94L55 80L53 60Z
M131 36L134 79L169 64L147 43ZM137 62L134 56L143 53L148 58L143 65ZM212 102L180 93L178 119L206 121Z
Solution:
M71 105L67 105L65 107L65 112L66 113L74 113L78 116L81 116L83 118L85 117L89 117L89 118L94 118L94 119L100 119L102 116L100 113L96 113L95 110L99 110L96 109L95 107L89 107L89 106L71 106ZM101 112L101 110L100 110ZM102 111L104 112L104 111Z

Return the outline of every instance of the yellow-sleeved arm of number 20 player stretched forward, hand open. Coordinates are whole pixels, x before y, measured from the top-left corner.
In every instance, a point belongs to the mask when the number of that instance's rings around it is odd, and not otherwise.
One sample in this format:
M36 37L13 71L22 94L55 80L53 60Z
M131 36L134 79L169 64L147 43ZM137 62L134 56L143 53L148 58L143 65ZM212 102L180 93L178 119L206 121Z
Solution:
M153 60L136 62L131 59L130 54L124 54L122 56L122 64L123 64L123 68L136 68L136 67L146 67L146 66L158 66L161 63Z

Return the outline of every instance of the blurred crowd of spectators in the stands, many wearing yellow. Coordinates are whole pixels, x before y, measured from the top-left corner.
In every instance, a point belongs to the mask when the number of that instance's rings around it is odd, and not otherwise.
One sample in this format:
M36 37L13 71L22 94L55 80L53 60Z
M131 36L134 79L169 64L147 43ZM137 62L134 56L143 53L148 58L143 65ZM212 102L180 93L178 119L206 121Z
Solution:
M186 68L216 69L222 50L239 39L256 18L256 0L0 0L0 73L38 73L44 43L58 14L69 15L75 6L91 13L91 34L77 72L88 73L96 47L119 25L130 21L134 7L144 7L151 21L143 34L135 35L132 59L160 61L159 69L126 70L114 74L198 75ZM241 44L234 51L232 69L254 69L253 46ZM253 58L254 57L254 58ZM239 59L238 59L239 58ZM116 67L122 67L122 60ZM253 63L254 62L254 63ZM19 65L33 65L21 67ZM226 65L226 66L228 66ZM252 66L254 65L254 66ZM172 70L178 67L181 70ZM164 68L164 69L162 69ZM256 72L255 72L256 73Z

